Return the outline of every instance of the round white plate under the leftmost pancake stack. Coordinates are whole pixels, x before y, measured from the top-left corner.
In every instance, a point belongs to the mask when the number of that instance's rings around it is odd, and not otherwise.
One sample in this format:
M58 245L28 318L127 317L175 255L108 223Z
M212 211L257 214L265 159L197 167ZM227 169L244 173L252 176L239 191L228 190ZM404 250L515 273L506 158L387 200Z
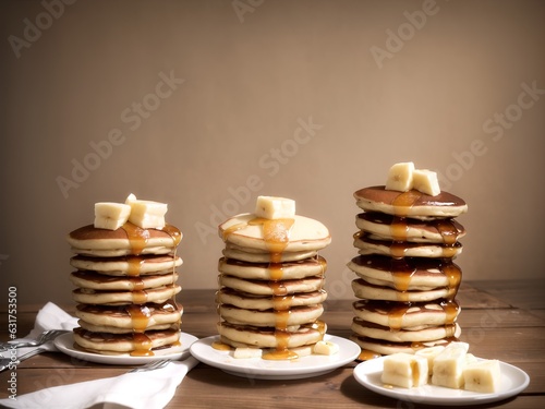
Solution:
M55 346L59 349L59 351L64 352L70 357L81 359L82 361L107 363L111 365L141 365L160 359L171 359L175 361L178 359L185 358L190 354L191 345L198 338L193 335L181 333L181 346L159 349L154 351L155 354L153 357L131 357L129 353L122 353L119 356L102 356L99 353L85 352L74 348L74 337L72 333L63 334L55 338Z

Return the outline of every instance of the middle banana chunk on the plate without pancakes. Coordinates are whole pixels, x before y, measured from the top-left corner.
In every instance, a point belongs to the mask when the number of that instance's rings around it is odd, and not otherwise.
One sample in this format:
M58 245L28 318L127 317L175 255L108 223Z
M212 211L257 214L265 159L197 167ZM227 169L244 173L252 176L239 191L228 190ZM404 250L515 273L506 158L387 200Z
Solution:
M434 359L432 383L438 386L460 389L463 386L463 369L469 344L450 342Z

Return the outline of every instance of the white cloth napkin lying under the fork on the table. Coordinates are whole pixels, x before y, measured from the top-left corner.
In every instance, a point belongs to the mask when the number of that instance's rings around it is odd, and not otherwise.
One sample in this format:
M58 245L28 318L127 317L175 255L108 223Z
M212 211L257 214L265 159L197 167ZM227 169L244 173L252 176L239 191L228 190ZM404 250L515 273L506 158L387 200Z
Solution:
M53 303L47 303L36 316L34 329L23 339L34 339L45 329L72 329L77 320ZM49 351L56 351L53 342L47 342ZM25 353L33 348L21 348ZM184 361L170 362L165 368L125 373L120 376L55 386L16 396L16 399L0 399L0 407L21 409L83 409L83 408L164 408L174 396L175 388L185 374L197 364L193 357ZM55 370L51 370L55 375Z

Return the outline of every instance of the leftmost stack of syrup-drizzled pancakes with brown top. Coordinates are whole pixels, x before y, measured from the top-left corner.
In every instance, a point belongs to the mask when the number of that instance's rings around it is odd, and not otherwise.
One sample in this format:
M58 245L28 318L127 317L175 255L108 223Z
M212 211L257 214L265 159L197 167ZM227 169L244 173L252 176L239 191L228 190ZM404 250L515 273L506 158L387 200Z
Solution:
M182 260L175 249L181 238L171 225L143 229L130 221L116 230L88 225L70 232L78 348L142 357L180 345L183 310L175 294Z

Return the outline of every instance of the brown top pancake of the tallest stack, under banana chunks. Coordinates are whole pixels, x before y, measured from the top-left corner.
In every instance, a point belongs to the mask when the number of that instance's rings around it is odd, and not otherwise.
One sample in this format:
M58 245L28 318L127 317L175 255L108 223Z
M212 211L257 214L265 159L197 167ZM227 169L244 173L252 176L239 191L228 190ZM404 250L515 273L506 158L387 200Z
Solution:
M468 210L462 199L445 191L429 196L416 190L398 192L379 185L361 189L354 193L354 197L356 205L366 212L423 220L457 217Z

